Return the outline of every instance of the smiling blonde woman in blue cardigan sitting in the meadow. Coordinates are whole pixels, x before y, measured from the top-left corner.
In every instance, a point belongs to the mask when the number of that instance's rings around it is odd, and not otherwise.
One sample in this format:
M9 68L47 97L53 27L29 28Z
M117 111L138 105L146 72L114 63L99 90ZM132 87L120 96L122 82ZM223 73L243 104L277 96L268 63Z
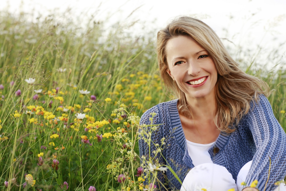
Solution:
M161 78L178 97L140 121L148 125L140 129L140 157L157 188L285 190L276 182L286 175L286 134L265 97L268 85L243 72L198 19L180 17L157 38Z

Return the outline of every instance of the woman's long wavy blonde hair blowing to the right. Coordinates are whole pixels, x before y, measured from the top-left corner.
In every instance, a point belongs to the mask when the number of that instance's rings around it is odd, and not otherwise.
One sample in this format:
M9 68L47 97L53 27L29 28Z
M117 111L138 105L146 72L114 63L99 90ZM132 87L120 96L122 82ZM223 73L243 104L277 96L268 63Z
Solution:
M166 44L168 40L181 35L196 40L214 60L218 73L215 86L215 124L226 133L235 131L233 125L237 125L242 116L249 111L250 101L258 102L259 94L268 96L269 86L260 78L242 71L215 31L208 25L191 17L179 17L158 32L156 52L162 81L167 90L172 90L178 97L178 110L185 116L192 116L186 96L166 71Z

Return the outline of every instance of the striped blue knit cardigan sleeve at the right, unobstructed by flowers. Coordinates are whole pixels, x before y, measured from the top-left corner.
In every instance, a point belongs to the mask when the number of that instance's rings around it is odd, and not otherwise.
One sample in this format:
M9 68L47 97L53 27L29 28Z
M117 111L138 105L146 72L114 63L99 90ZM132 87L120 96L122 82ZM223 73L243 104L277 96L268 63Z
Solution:
M286 134L274 117L267 98L263 94L259 98L259 103L251 102L247 114L247 124L253 135L256 152L245 187L258 180L258 190L264 190L266 185L266 191L273 191L277 187L275 182L283 180L286 175Z

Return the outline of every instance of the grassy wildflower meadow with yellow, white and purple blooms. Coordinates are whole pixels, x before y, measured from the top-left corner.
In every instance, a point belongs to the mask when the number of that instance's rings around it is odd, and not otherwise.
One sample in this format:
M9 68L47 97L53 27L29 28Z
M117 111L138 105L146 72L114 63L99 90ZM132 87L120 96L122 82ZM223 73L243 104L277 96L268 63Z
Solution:
M140 168L139 120L173 98L154 39L120 25L107 34L103 22L83 30L55 15L27 20L0 15L1 190L154 189ZM256 64L245 70L274 89L268 99L286 129L286 72Z

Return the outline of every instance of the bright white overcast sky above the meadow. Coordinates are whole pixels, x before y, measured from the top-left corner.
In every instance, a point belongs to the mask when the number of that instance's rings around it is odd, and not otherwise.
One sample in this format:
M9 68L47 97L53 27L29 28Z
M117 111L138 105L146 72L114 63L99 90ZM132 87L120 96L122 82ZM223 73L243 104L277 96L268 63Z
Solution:
M251 50L253 57L264 51L279 49L286 64L286 1L285 0L0 0L0 11L19 14L48 15L52 10L64 12L68 8L74 19L84 21L91 15L96 21L106 21L106 29L116 22L133 23L134 34L149 34L156 39L159 29L171 19L186 15L201 19L216 31L232 51ZM35 15L34 14L34 17ZM108 19L107 19L108 18ZM82 26L84 27L84 26ZM130 32L130 31L128 31ZM283 44L284 43L284 44ZM266 55L266 54L265 54Z

